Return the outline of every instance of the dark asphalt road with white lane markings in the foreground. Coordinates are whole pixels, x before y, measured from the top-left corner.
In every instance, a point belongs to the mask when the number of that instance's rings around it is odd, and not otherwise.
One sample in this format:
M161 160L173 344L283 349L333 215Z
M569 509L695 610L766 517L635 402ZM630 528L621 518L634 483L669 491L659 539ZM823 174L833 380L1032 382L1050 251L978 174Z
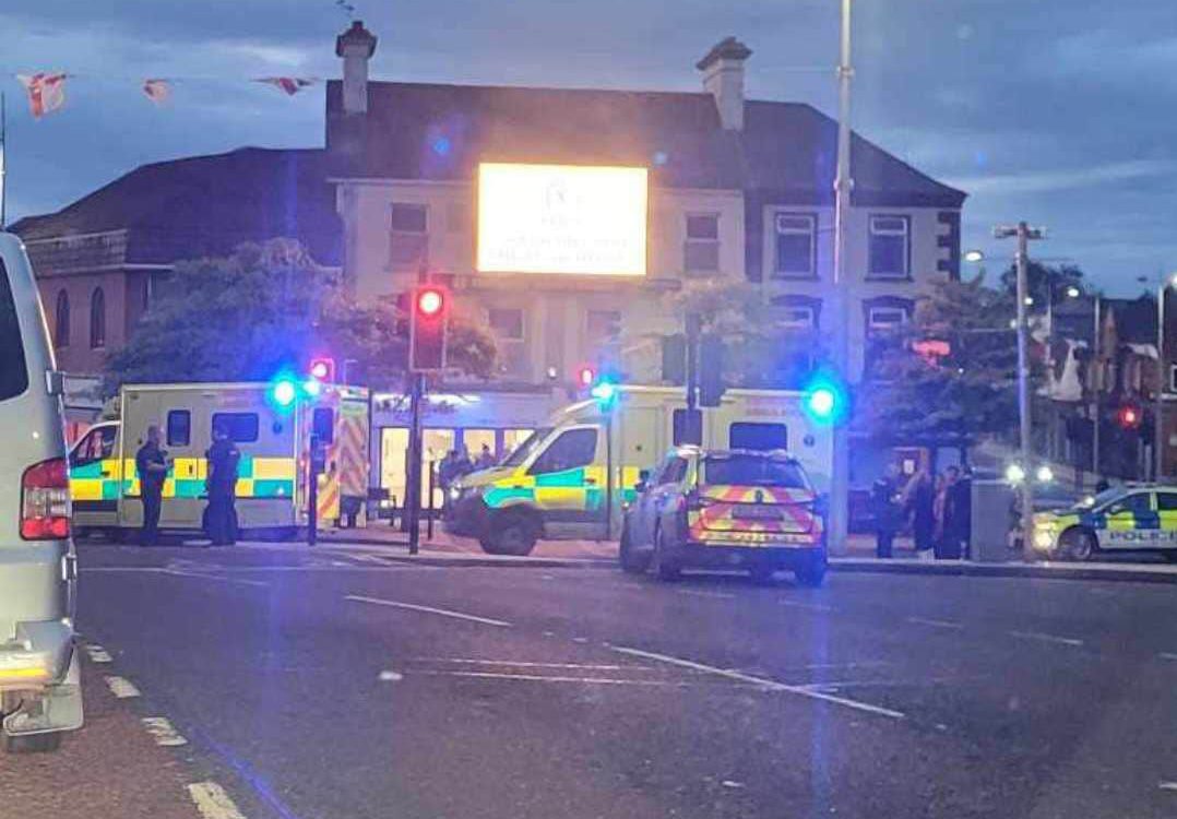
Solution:
M284 819L1177 814L1168 585L89 546L79 622L141 692L100 707L188 740L151 748L178 817L193 781ZM64 753L104 739L142 791L107 721Z

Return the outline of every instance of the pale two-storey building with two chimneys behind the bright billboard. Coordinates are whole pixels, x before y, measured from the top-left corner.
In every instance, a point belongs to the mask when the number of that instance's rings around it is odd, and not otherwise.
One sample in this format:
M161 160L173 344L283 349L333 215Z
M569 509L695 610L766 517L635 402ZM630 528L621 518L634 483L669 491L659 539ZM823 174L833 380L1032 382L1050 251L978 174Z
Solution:
M656 379L659 337L681 331L664 294L689 281L754 282L783 328L829 337L837 124L809 105L746 100L743 44L699 61L698 93L377 82L375 46L353 24L337 40L344 79L327 85L344 274L361 297L423 274L448 281L517 382L567 382L603 357ZM645 275L480 272L483 162L649 168ZM926 282L959 275L965 194L857 135L852 167L857 375L871 337L907 321Z

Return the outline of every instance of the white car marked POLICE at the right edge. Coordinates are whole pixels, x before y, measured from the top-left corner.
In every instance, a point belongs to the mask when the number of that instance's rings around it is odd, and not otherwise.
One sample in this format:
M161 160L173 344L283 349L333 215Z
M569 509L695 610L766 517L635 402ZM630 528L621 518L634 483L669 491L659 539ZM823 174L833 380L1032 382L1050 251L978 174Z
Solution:
M1071 560L1150 551L1177 561L1177 485L1117 486L1070 508L1036 514L1033 548Z

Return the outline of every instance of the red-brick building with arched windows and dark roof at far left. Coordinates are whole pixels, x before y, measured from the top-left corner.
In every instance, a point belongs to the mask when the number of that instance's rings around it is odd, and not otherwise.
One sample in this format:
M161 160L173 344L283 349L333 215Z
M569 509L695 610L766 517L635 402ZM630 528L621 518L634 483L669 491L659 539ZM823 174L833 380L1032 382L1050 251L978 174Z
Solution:
M13 225L28 248L58 366L97 375L184 259L292 237L338 266L340 225L321 149L241 148L135 168Z

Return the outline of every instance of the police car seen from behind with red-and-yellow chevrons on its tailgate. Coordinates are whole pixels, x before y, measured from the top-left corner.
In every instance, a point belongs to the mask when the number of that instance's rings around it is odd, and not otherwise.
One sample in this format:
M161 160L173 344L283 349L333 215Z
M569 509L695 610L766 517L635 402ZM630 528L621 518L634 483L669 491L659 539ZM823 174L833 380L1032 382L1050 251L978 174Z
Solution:
M826 570L823 499L784 451L673 448L625 512L621 568L664 580L683 568L744 568L762 582L790 570L820 586Z

